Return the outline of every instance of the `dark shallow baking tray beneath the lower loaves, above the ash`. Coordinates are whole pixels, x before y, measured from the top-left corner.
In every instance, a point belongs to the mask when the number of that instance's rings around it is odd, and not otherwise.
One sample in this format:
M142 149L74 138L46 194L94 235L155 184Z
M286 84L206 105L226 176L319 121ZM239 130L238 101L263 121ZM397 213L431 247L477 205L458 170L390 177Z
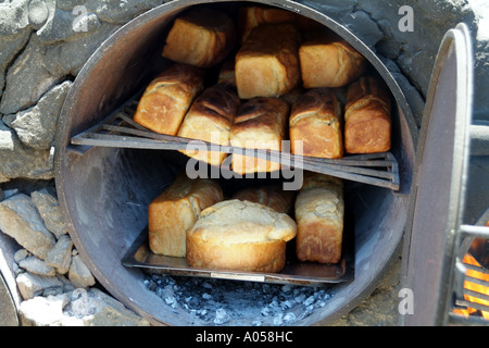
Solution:
M350 282L354 277L354 262L350 248L344 248L340 262L321 264L298 261L290 247L291 245L288 245L286 265L279 273L199 269L189 266L185 258L151 252L148 245L148 229L145 228L125 253L122 264L127 268L139 268L149 273L312 286Z

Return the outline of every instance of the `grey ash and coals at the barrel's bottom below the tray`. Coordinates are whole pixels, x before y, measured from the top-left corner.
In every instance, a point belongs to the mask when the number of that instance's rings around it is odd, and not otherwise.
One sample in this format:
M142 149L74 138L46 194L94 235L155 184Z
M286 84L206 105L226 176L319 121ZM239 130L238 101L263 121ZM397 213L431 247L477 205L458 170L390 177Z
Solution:
M190 324L294 325L325 307L328 287L147 274L145 285L175 313L185 311Z

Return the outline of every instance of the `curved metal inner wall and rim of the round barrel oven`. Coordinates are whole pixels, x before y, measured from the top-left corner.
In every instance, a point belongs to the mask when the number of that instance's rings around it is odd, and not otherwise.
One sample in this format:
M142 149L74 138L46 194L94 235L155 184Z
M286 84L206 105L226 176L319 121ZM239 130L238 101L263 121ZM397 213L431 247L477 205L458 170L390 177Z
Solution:
M171 301L148 286L146 271L124 266L121 260L148 223L149 202L173 182L175 175L185 167L188 158L174 150L74 145L72 138L105 119L140 92L165 64L160 51L172 20L196 4L170 3L153 9L104 42L87 62L66 98L57 138L55 165L60 203L84 260L98 281L125 306L153 323L171 325L216 322L203 321L183 307L176 310ZM234 11L240 4L224 2L212 5ZM299 4L297 7L297 11L339 32L347 39L354 38L351 33L329 20L327 14L318 14ZM372 63L371 69L378 71L392 91L391 152L399 163L401 188L393 190L344 181L344 249L351 258L352 276L347 282L323 287L299 286L298 289L304 296L316 295L317 299L317 294L321 294L323 300L316 300L316 303L322 304L310 310L308 315L296 315L297 320L290 322L292 324L325 324L344 314L375 289L384 272L399 257L414 162L410 110L399 87L380 61L361 42L352 44L366 54ZM259 185L264 182L281 183L281 178L247 179L246 184L238 178L220 178L228 195L242 185ZM290 288L283 284L220 279L212 279L210 283L208 278L189 279L179 275L172 276L172 282L173 286L180 287L180 293L188 296L205 286L211 286L212 291L222 288L223 296L228 291L229 297L234 296L231 293L236 295L243 289L251 291L251 288L263 296L265 293L275 296L290 293ZM227 321L227 324L251 324L255 318L247 315L254 315L255 312L250 307L256 306L258 312L263 309L260 301L249 301L242 306L241 310L237 310L240 314ZM265 319L263 321L274 324L273 319L269 322Z

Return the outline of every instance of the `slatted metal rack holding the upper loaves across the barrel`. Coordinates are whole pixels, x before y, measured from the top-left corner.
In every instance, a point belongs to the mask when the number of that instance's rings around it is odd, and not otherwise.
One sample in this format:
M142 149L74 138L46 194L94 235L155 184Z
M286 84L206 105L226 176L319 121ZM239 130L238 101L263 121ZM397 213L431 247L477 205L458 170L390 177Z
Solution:
M89 129L75 135L72 145L100 146L153 150L185 150L196 141L190 138L159 134L134 122L139 95L134 96L105 120ZM391 152L348 154L341 159L319 159L292 154L290 151L274 151L264 149L244 149L233 146L222 146L202 140L199 148L224 153L244 153L285 166L301 167L306 171L323 173L344 179L368 185L387 187L393 190L400 188L399 165ZM228 169L230 171L230 169Z

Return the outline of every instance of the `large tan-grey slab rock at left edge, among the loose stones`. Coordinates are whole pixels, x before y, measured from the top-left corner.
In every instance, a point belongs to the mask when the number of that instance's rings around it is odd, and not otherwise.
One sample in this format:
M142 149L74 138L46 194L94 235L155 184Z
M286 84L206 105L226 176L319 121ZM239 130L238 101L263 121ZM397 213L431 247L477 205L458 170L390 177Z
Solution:
M25 194L0 202L0 229L42 260L57 241Z

